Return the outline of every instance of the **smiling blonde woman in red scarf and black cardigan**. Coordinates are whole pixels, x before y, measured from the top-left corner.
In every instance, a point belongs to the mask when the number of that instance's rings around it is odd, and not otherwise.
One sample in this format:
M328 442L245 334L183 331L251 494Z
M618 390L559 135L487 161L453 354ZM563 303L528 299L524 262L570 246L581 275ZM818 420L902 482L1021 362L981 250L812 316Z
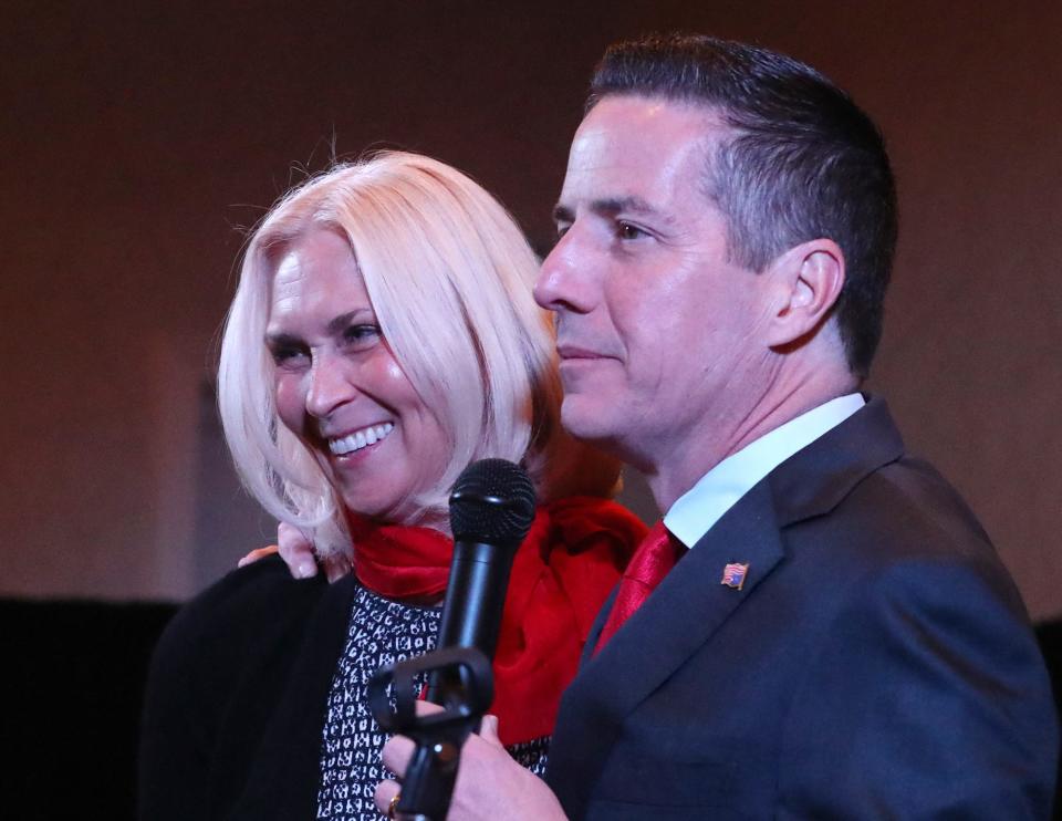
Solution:
M140 815L377 818L381 665L434 646L472 460L529 470L494 663L502 741L541 770L560 694L644 532L608 501L616 463L562 430L537 261L512 218L441 163L388 153L281 199L252 236L226 324L219 404L248 489L333 568L278 558L191 602L156 652Z

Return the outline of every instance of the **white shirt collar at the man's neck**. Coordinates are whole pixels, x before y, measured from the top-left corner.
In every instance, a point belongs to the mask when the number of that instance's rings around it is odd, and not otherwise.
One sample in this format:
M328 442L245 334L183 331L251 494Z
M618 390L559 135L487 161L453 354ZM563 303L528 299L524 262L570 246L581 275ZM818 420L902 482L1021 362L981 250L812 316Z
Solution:
M694 547L764 476L865 404L861 394L839 396L746 445L676 500L664 526L687 548Z

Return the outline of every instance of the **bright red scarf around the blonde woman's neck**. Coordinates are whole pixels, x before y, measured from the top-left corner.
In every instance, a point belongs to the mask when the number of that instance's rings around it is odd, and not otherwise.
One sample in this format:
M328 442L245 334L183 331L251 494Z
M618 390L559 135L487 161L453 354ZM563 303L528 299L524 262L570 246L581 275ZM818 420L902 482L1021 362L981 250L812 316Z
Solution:
M388 599L446 591L454 542L437 530L351 518L354 574ZM494 656L502 744L553 731L561 694L605 597L645 526L606 499L571 497L540 507L517 551Z

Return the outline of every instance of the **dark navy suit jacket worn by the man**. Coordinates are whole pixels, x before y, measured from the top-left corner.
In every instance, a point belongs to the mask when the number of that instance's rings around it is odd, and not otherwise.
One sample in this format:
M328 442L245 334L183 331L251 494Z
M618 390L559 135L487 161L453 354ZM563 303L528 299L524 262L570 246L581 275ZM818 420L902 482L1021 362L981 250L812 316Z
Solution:
M1009 821L1050 817L1058 751L1013 583L872 401L584 658L546 779L573 819Z

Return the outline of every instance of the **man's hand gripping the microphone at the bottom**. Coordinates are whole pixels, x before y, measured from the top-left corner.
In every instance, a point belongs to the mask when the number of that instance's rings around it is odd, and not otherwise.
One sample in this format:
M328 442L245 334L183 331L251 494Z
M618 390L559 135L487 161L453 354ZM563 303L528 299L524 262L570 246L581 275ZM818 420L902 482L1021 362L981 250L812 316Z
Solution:
M418 703L417 709L430 710L435 705ZM438 709L436 707L436 709ZM406 772L414 744L405 736L395 736L384 745L384 763L402 778ZM383 781L376 788L376 809L385 815L391 800L398 794L395 781ZM485 716L479 735L471 735L461 748L454 800L448 821L565 821L556 797L538 776L512 760L498 740L498 717Z

